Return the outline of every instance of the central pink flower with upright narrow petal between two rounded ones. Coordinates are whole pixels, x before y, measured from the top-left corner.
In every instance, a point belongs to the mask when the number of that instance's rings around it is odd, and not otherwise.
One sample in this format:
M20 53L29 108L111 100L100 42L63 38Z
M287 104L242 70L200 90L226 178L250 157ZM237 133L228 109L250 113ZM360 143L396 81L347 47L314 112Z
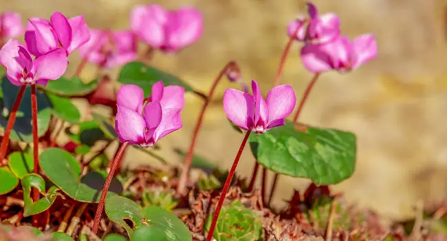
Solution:
M223 94L223 110L226 116L241 127L254 133L264 133L273 127L284 125L284 118L295 107L296 96L290 85L279 85L261 96L259 85L252 80L253 96L235 89Z

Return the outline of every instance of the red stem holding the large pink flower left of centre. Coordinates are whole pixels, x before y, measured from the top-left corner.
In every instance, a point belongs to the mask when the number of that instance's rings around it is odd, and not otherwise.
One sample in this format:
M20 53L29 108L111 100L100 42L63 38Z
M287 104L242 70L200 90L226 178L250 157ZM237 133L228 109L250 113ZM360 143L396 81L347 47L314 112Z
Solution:
M113 164L110 169L109 175L107 175L107 179L105 180L104 187L102 188L102 193L101 193L101 197L99 200L98 209L96 209L96 214L95 214L95 219L94 219L94 224L93 224L93 229L92 229L92 232L94 234L98 233L99 222L101 220L102 210L104 209L107 191L109 191L109 187L110 187L111 180L113 178L113 174L115 173L115 171L118 167L118 164L120 163L120 159L122 158L122 154L124 154L124 151L126 150L128 143L129 142L127 142L127 141L122 143L122 146L120 147L120 150L118 151L118 154L116 154L116 157L113 160Z

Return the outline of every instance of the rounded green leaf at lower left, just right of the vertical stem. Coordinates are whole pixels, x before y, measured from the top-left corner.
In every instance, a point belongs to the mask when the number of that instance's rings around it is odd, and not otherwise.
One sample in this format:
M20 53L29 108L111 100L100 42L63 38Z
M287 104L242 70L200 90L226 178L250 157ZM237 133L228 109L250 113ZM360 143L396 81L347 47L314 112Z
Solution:
M45 176L74 200L99 202L102 187L94 189L79 182L80 165L67 151L58 148L45 149L41 154L40 165Z

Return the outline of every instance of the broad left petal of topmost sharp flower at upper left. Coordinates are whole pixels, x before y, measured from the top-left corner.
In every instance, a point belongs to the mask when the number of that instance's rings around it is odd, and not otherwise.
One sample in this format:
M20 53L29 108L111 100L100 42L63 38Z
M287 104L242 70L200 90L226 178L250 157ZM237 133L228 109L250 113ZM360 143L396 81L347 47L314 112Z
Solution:
M41 21L30 20L36 33L36 46L40 54L45 54L58 48L58 39L50 27Z

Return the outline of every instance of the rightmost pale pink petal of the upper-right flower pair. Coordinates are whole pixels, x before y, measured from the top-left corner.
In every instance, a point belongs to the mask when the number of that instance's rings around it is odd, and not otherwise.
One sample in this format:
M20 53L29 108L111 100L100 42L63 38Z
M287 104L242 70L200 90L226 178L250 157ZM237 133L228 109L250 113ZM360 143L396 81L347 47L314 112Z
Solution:
M353 69L377 56L377 42L375 41L373 34L363 34L358 36L354 39L352 45L353 51L357 56L356 61L352 66Z

